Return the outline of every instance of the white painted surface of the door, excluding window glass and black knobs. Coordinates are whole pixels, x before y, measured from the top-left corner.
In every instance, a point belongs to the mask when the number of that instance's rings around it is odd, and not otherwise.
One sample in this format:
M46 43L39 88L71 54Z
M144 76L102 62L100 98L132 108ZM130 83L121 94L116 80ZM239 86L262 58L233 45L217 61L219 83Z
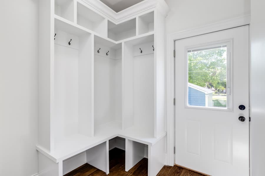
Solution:
M231 73L231 107L225 110L187 108L186 50L217 43L227 43L227 62L231 60L227 71L227 75ZM176 95L175 163L208 175L248 176L249 26L178 40L175 50L175 91L185 92ZM246 106L244 111L238 109L240 104ZM239 121L239 116L244 116L246 121Z

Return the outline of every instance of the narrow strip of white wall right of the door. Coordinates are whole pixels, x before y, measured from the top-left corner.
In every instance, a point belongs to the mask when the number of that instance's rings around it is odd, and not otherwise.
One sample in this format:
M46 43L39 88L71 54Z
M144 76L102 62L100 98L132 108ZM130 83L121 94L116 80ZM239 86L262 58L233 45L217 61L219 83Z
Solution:
M265 1L251 0L252 176L265 175Z

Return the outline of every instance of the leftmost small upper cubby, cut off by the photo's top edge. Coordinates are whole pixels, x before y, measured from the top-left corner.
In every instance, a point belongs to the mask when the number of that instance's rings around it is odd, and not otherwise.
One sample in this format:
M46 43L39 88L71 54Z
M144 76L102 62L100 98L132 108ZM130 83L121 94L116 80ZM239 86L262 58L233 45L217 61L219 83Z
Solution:
M74 22L74 1L73 0L55 0L54 14Z

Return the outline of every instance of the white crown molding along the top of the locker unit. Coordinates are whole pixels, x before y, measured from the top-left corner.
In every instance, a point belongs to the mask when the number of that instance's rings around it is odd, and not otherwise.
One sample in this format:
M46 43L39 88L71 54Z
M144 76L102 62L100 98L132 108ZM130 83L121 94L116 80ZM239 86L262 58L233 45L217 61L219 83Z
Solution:
M100 0L77 0L77 2L87 6L89 9L99 13L115 24L135 18L138 14L151 9L158 9L164 16L167 16L169 12L169 7L164 0L144 0L118 13L110 9L110 7Z

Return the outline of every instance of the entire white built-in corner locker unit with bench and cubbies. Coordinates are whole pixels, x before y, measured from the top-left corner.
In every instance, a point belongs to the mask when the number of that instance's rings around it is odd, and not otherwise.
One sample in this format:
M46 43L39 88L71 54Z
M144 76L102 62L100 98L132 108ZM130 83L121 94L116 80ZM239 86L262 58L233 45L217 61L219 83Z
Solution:
M39 175L89 163L109 173L109 150L125 170L165 164L163 0L119 13L98 0L39 1Z

